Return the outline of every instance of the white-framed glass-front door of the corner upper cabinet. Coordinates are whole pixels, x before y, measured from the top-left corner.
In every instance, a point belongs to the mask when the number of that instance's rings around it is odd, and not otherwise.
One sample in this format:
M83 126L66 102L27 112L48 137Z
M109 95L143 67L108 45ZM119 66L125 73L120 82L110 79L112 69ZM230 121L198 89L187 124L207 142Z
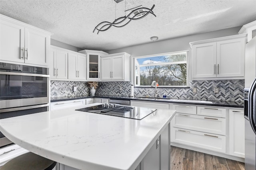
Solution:
M87 80L100 80L100 54L87 53Z

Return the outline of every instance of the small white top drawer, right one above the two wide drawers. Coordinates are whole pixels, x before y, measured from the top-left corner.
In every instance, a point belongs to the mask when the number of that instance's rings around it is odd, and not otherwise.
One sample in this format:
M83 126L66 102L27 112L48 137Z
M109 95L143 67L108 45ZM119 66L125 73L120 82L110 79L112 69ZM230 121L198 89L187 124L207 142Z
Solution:
M197 107L198 115L206 115L213 117L226 117L226 109L218 107Z

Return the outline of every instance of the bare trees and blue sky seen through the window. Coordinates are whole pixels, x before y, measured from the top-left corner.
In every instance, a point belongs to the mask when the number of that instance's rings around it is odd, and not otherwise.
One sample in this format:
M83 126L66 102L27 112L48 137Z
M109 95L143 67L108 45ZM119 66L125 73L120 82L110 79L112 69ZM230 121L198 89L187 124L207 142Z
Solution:
M139 86L186 86L187 52L136 58L139 64Z

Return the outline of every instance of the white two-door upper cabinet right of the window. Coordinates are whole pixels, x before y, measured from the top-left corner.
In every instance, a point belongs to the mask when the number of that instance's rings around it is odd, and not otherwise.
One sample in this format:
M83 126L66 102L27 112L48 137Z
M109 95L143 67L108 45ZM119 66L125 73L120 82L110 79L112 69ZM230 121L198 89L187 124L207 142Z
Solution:
M196 41L192 48L192 79L244 78L246 34Z

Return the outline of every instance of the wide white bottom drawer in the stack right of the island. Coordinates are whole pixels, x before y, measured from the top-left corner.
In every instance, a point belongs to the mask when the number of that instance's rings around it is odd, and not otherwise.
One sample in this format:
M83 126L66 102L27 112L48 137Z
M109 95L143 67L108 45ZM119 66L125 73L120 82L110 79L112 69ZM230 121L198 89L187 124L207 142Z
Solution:
M226 137L174 128L171 131L171 141L190 145L193 147L214 150L217 152L226 152Z

